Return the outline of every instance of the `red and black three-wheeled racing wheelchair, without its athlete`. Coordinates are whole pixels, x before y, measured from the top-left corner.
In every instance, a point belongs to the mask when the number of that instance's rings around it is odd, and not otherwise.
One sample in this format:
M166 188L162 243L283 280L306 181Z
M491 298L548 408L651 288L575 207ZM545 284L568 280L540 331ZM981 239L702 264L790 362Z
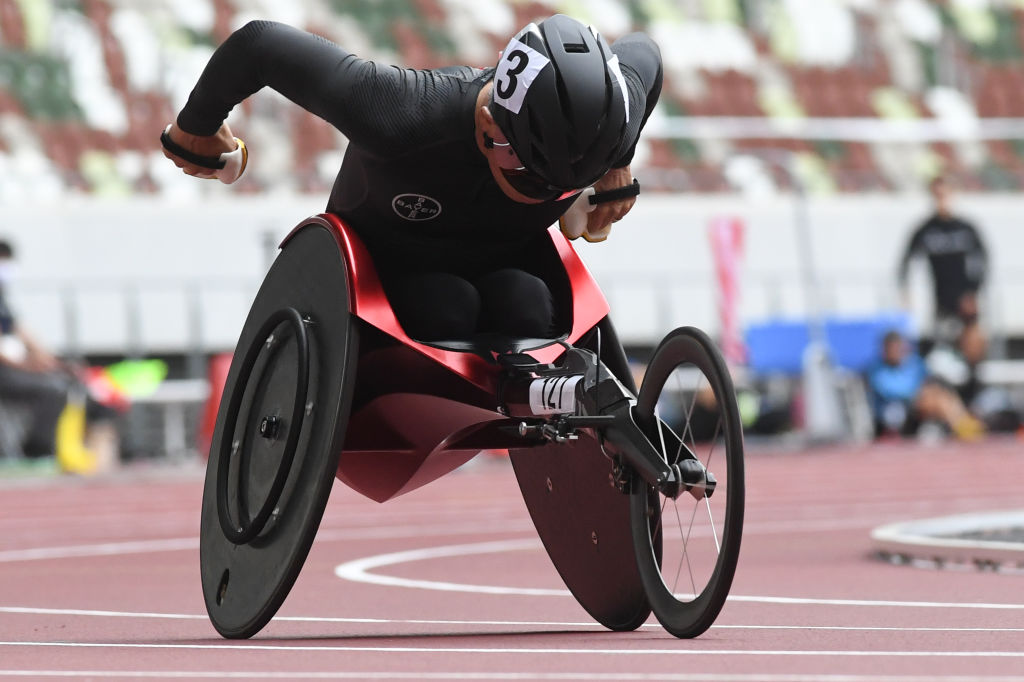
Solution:
M377 502L484 450L508 451L566 587L598 623L650 615L695 637L728 595L743 522L743 441L727 368L699 330L657 346L639 390L583 261L552 227L538 267L556 339L410 338L337 216L284 240L243 327L203 494L207 611L251 637L284 602L335 478Z

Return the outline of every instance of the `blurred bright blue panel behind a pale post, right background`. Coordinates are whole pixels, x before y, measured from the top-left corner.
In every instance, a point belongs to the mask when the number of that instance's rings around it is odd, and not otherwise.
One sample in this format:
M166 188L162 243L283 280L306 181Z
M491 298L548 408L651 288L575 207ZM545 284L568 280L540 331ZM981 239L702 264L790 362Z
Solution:
M897 330L914 338L910 315L884 312L868 317L827 317L825 341L834 367L866 371L882 354L882 338ZM792 374L803 371L810 343L806 319L772 319L746 327L748 365L755 374Z

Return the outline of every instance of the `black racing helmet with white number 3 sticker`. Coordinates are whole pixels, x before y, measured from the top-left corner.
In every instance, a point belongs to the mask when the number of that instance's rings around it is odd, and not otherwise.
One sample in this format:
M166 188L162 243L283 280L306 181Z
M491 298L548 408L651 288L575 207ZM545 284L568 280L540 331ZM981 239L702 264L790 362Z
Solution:
M575 189L600 179L622 155L629 94L604 38L555 14L509 42L489 110L526 170Z

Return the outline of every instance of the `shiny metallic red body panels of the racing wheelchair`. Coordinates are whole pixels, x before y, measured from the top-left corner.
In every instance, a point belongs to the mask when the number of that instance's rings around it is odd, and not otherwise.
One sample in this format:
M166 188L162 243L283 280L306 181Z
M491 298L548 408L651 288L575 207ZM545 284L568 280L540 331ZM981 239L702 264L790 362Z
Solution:
M344 255L349 273L349 307L351 313L367 325L380 330L403 348L415 351L449 370L449 381L462 380L483 390L498 393L501 368L471 352L449 350L428 345L410 336L401 328L384 293L384 287L369 252L359 239L332 214L309 218L292 235L311 224L331 230ZM565 265L572 297L572 329L565 341L573 343L608 314L608 303L598 289L587 266L557 227L548 230L551 243ZM285 239L284 247L292 235ZM564 348L551 344L534 349L530 355L538 361L554 361ZM377 370L386 372L388 369ZM375 382L368 368L360 363L356 370L358 382ZM443 382L444 375L438 379ZM440 397L443 386L431 387L432 393L388 392L353 410L348 421L348 435L338 467L338 478L362 495L384 502L409 493L458 468L481 450L501 450L515 444L487 426L504 421L494 409L467 404ZM497 407L497 406L495 406ZM481 432L489 438L481 439ZM387 437L394 434L392 446ZM481 445L483 445L481 447ZM386 463L386 464L385 464Z

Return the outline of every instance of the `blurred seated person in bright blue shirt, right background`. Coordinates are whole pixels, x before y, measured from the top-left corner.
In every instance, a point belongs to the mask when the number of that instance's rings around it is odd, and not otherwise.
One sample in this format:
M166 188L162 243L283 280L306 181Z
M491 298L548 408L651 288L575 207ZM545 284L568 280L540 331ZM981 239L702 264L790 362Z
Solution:
M885 335L882 357L868 371L867 385L880 435L913 435L926 422L938 423L964 439L985 432L959 395L928 375L924 360L899 332Z

